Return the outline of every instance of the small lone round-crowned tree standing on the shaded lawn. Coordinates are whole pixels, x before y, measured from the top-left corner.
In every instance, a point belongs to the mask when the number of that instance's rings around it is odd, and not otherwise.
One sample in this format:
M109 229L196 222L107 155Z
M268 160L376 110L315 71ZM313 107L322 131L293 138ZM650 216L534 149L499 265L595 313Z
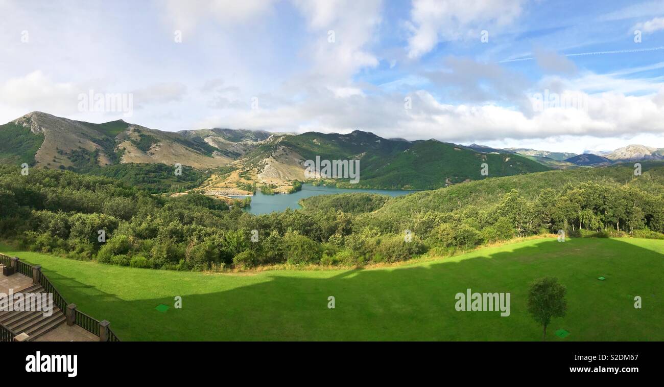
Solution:
M546 326L553 317L564 317L567 310L565 293L567 289L558 283L557 278L543 277L531 283L528 293L528 311L533 319L544 327L542 341L546 340Z

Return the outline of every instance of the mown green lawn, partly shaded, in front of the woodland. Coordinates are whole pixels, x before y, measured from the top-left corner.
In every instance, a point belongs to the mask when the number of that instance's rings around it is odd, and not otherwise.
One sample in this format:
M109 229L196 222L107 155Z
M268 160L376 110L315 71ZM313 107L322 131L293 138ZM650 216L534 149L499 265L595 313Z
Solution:
M664 241L533 239L392 269L203 274L11 251L39 263L81 311L122 340L540 340L528 284L566 285L568 313L547 340L664 340ZM599 281L600 276L606 277ZM511 315L457 312L456 293L511 293ZM327 297L336 308L327 308ZM643 308L633 307L641 296ZM175 296L183 308L174 309ZM161 313L159 304L171 306ZM558 328L570 332L554 336Z

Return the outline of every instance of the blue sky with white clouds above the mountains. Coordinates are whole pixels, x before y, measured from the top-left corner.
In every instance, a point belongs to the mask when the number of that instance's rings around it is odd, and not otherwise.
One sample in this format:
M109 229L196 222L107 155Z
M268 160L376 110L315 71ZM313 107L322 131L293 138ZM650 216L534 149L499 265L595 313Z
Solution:
M131 108L82 104L91 94ZM0 0L0 122L35 110L167 131L664 147L664 1Z

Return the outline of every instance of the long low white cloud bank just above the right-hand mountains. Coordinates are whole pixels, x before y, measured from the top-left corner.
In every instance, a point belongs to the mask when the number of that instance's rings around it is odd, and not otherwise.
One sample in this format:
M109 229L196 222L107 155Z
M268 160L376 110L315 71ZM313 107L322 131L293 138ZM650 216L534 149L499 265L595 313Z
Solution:
M561 94L580 93L561 90ZM261 110L232 110L223 118L210 117L210 126L230 126L281 132L350 132L368 130L386 138L436 138L467 143L505 138L533 139L559 136L633 136L664 130L660 94L625 96L617 92L581 93L583 106L551 106L531 116L492 103L444 104L430 92L404 95L380 93L347 98L317 90L297 102ZM530 103L533 102L531 95Z

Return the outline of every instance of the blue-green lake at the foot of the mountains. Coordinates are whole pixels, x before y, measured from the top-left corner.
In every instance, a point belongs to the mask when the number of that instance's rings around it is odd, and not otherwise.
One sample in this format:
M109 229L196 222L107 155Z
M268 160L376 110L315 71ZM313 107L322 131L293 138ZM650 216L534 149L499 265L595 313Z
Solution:
M274 211L284 211L290 207L291 209L301 208L297 201L299 199L304 199L305 197L317 196L317 195L332 195L332 194L351 194L352 192L365 192L367 194L379 194L379 195L390 195L390 196L400 196L410 194L415 191L406 191L406 190L355 190L347 188L336 188L332 186L312 186L311 184L303 184L302 190L295 192L295 194L287 195L265 195L260 191L257 191L255 195L251 197L251 206L246 207L244 210L253 213L254 215L260 215L262 213L270 213ZM242 199L246 196L231 196L237 199Z

